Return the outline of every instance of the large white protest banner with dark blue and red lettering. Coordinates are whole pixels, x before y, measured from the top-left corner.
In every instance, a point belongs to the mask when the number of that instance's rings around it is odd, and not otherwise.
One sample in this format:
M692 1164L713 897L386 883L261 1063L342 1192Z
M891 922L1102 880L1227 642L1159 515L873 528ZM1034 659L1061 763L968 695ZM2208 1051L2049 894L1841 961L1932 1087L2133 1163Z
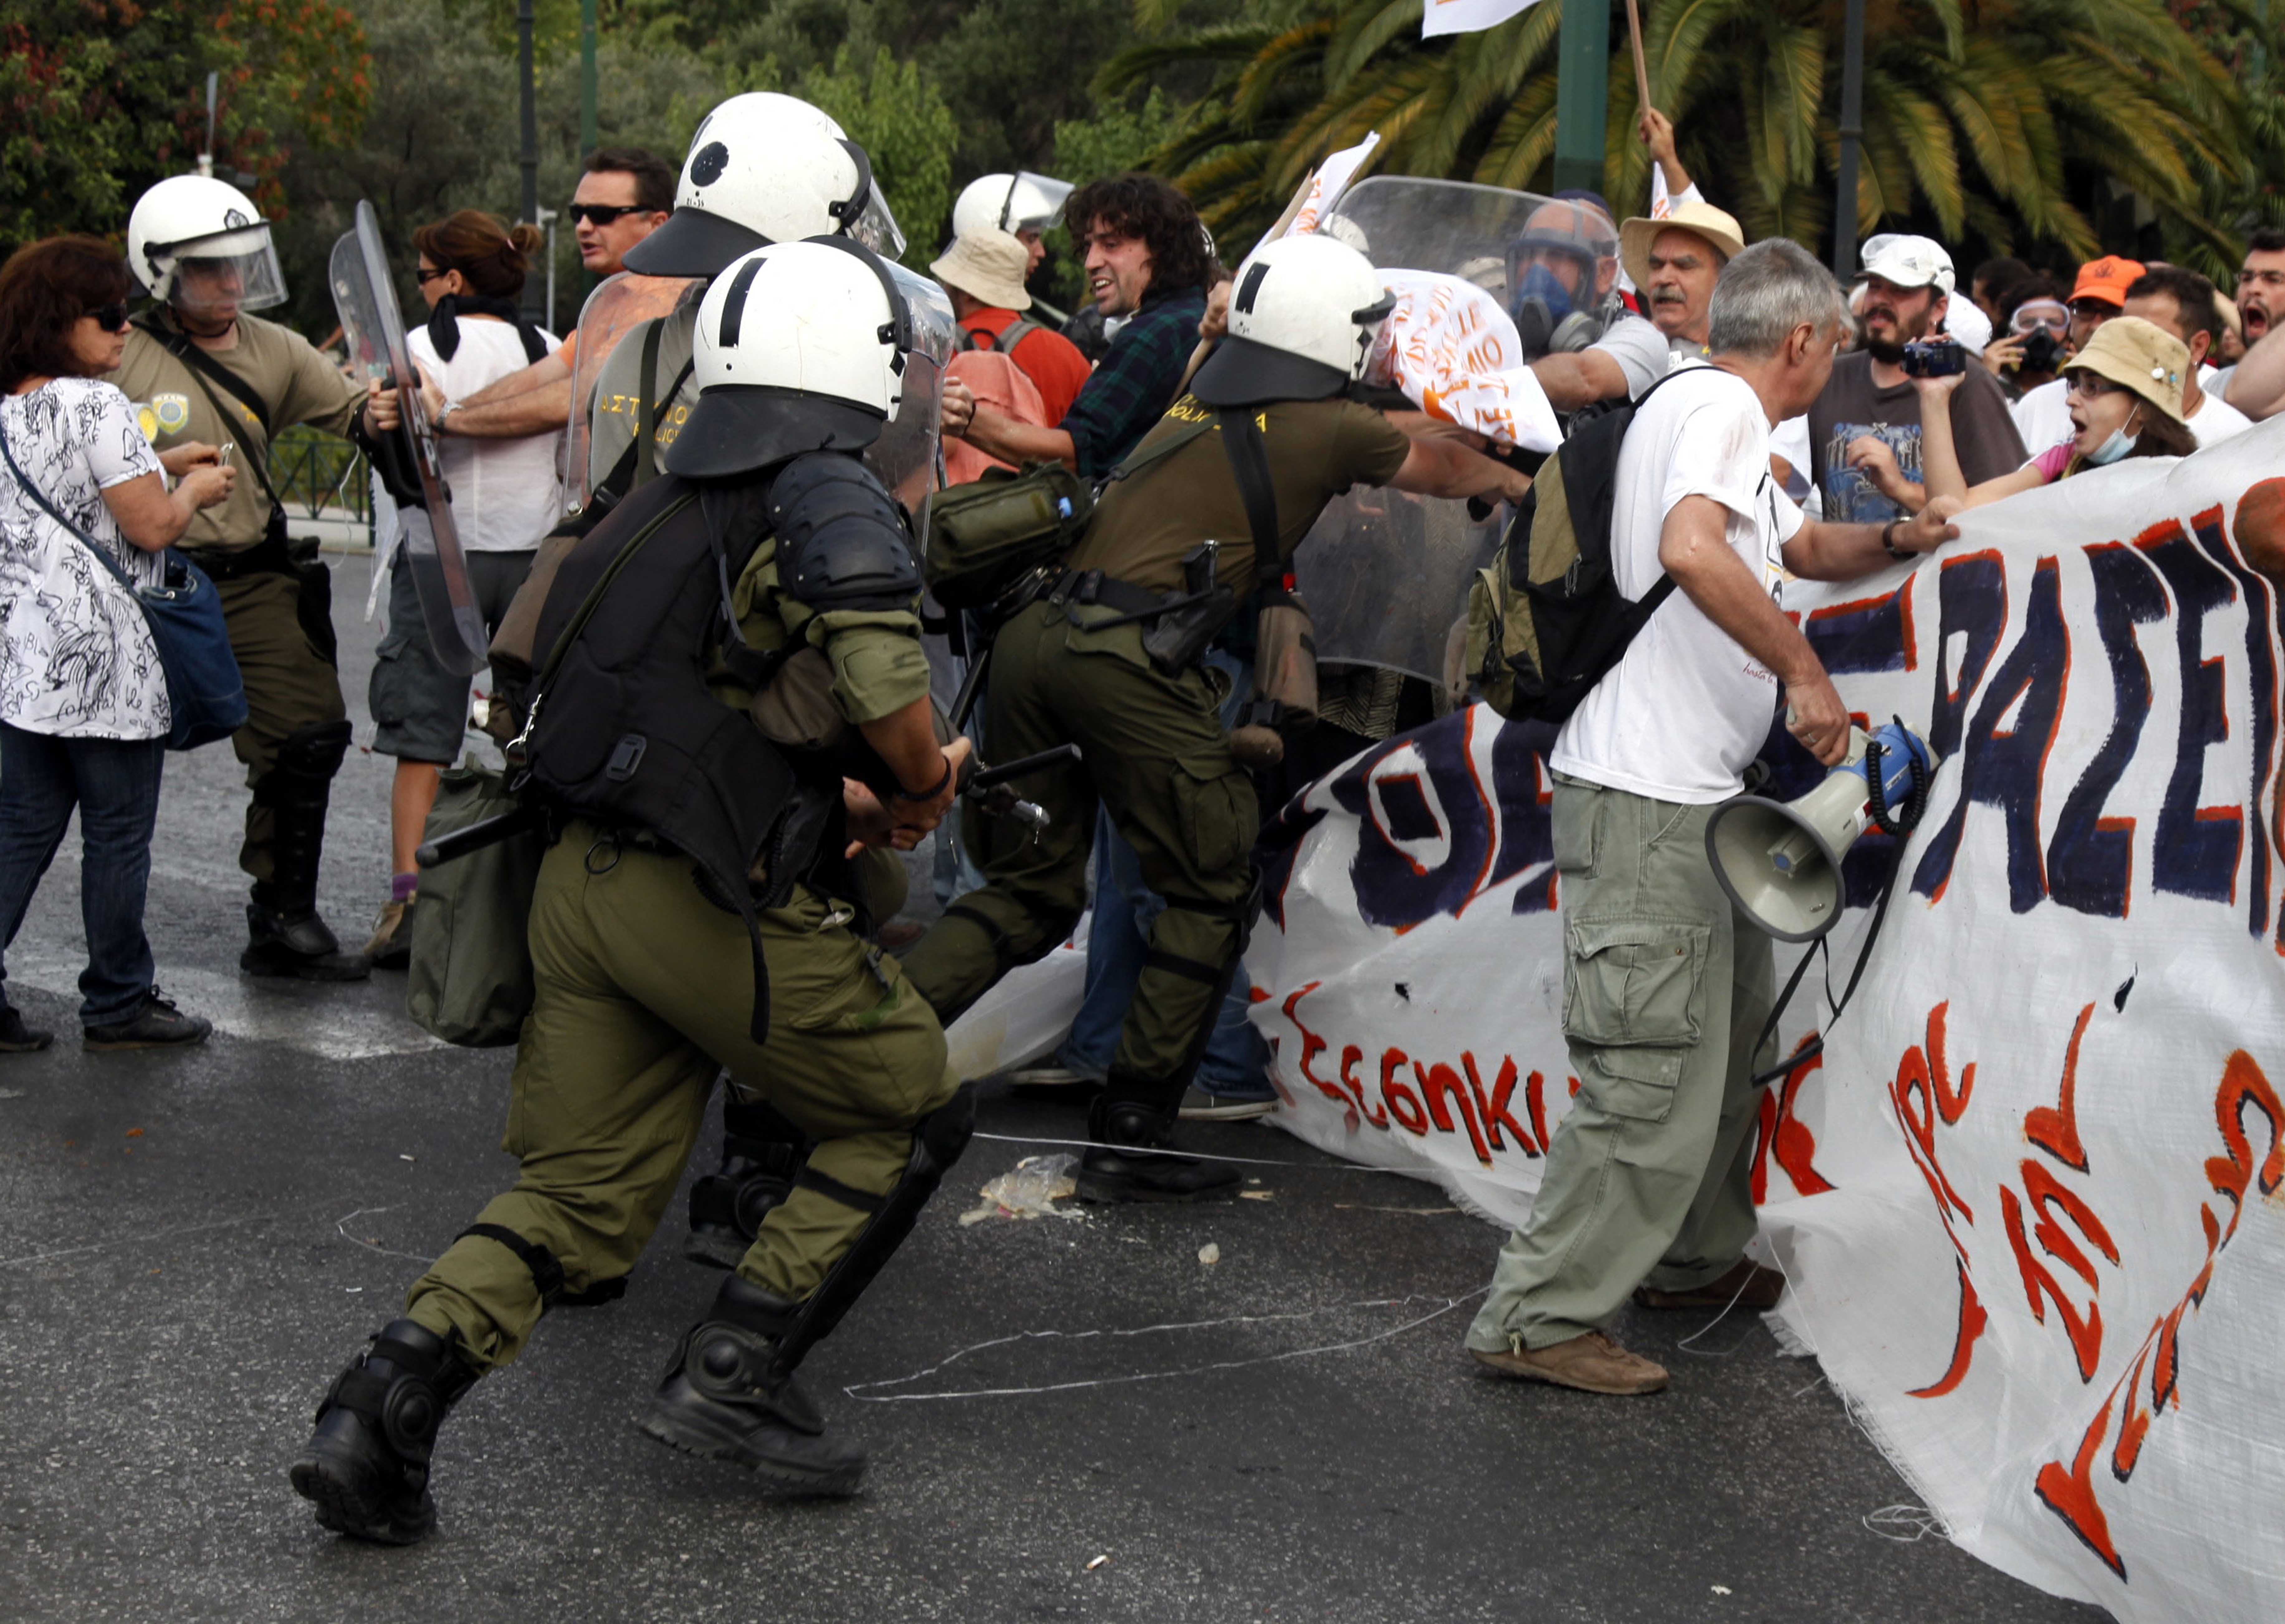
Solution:
M1865 987L1762 1101L1782 1320L1954 1539L2152 1624L2285 1594L2280 475L2269 423L1785 589L1942 767ZM1572 1090L1545 742L1478 706L1316 783L1248 950L1275 1119L1501 1222ZM1849 859L1835 984L1890 857Z

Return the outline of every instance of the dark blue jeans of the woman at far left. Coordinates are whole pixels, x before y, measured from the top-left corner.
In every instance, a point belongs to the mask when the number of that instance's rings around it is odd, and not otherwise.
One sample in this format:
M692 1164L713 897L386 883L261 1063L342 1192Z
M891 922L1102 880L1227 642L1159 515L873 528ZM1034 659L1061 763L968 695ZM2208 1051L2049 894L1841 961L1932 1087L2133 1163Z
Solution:
M121 1021L151 991L155 966L142 909L165 763L162 738L50 738L0 722L0 948L14 946L78 806L82 1026Z

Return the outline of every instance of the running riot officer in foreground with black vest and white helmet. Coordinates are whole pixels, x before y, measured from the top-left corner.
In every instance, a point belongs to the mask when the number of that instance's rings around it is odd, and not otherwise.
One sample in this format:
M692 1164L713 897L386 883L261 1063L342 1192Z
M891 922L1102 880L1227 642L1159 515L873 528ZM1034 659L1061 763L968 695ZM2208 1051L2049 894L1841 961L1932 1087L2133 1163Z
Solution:
M864 1471L793 1370L971 1121L935 1014L859 934L843 861L932 829L967 756L937 742L903 512L857 457L898 413L903 320L848 240L729 265L667 475L564 557L521 742L555 831L507 1126L523 1169L327 1393L292 1469L327 1528L430 1530L446 1412L551 1304L617 1293L720 1067L809 1149L642 1425L807 1492Z

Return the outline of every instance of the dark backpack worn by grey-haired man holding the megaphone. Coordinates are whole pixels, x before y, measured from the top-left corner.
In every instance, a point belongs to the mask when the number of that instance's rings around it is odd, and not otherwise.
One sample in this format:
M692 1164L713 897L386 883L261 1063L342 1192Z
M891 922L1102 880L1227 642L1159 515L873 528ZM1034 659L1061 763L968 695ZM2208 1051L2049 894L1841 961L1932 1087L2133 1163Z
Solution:
M1510 722L1563 722L1675 589L1673 576L1659 576L1638 601L1620 594L1611 505L1627 425L1677 377L1686 370L1572 429L1467 589L1467 669Z

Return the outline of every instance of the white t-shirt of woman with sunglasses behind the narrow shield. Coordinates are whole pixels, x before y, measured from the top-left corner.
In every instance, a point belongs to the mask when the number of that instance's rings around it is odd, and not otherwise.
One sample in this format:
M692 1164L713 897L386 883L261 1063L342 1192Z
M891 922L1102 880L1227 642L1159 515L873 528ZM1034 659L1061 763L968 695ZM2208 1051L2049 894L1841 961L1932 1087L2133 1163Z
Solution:
M546 333L548 354L562 340ZM466 400L480 388L521 372L530 361L510 322L459 317L459 347L450 361L436 354L427 327L407 333L407 347L446 400ZM521 441L443 436L436 443L443 482L452 489L452 528L464 553L521 553L564 516L564 432Z

